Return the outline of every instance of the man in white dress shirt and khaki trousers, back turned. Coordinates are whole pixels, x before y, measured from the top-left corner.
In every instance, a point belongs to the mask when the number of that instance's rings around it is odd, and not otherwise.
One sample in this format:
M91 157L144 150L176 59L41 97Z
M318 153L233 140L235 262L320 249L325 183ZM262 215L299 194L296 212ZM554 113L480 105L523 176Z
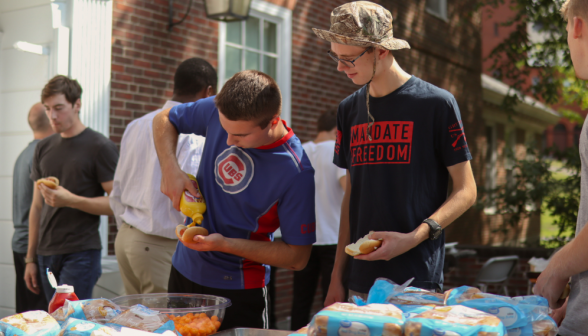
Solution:
M166 293L172 255L178 242L175 227L185 216L160 191L161 168L153 144L153 118L182 103L215 94L216 70L201 58L180 64L171 101L131 122L123 135L110 206L118 233L114 244L126 294ZM182 170L196 175L204 138L180 135L176 157Z

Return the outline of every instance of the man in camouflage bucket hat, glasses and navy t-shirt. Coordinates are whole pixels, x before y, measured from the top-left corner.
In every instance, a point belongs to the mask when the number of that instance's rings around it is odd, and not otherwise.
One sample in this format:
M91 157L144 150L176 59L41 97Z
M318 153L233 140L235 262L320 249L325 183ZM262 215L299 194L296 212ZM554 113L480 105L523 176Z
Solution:
M457 102L398 65L391 51L410 46L393 37L392 15L384 7L347 3L333 10L328 31L313 30L331 42L328 54L337 70L362 85L337 113L334 163L348 173L325 305L345 300L345 246L370 231L382 246L349 259L350 295L367 297L378 277L399 284L414 277L413 286L440 291L443 228L476 199Z

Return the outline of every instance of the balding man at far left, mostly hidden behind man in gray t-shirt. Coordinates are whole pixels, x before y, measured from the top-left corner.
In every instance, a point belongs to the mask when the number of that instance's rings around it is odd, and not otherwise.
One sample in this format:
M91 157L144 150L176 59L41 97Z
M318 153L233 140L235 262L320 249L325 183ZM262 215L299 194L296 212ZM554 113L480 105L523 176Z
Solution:
M12 255L16 271L16 312L47 309L47 300L42 292L35 294L27 289L24 281L25 256L29 245L29 210L33 201L33 180L31 166L33 154L39 140L53 133L49 119L45 115L45 107L37 103L31 107L28 116L29 126L33 130L33 141L20 153L14 164L12 175ZM37 278L39 280L39 278Z

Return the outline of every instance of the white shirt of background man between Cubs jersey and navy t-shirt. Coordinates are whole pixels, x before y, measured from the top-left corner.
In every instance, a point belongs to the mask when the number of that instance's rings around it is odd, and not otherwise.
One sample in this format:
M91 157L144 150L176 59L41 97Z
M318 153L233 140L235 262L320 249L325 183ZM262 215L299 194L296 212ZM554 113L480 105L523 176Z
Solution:
M345 169L333 163L335 141L319 143L313 141L302 145L314 168L316 243L314 245L336 245L339 239L341 203L345 190L339 179L347 174Z

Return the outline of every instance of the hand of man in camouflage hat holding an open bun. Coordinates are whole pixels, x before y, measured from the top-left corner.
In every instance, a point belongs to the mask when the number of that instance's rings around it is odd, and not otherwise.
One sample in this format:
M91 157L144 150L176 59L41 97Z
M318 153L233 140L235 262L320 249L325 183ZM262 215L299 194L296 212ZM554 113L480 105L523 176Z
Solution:
M417 245L414 232L374 232L369 236L369 239L382 239L382 246L378 247L374 252L357 255L355 256L355 259L387 261L405 253Z

